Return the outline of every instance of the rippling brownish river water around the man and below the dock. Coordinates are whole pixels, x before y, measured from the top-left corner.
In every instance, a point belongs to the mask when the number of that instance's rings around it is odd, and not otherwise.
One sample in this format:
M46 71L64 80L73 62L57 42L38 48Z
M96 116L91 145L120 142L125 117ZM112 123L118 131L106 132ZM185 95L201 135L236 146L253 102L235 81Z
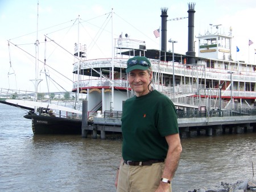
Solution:
M122 140L34 136L24 114L0 104L0 191L115 191ZM173 192L253 177L255 138L242 133L182 139Z

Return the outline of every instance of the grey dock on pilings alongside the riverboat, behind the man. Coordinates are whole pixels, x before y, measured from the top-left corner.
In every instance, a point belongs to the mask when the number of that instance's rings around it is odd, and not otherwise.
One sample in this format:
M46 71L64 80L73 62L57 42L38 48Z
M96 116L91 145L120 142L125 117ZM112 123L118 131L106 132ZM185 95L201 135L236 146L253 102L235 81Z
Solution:
M84 101L83 107L85 104ZM85 106L86 108L86 106ZM83 111L86 114L86 110ZM82 115L84 116L84 115ZM95 116L93 124L82 124L82 137L92 131L93 139L100 131L101 139L105 139L106 132L121 131L122 111L105 111L102 116ZM256 110L224 110L224 111L178 111L177 122L180 137L213 136L225 133L244 133L256 131Z

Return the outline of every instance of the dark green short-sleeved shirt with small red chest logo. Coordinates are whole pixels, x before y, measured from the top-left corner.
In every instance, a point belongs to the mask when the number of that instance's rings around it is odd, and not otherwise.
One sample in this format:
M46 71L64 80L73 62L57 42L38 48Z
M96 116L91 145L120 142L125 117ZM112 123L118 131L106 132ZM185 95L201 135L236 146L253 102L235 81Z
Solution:
M179 133L174 104L156 90L127 99L121 120L124 160L163 160L168 151L165 136Z

